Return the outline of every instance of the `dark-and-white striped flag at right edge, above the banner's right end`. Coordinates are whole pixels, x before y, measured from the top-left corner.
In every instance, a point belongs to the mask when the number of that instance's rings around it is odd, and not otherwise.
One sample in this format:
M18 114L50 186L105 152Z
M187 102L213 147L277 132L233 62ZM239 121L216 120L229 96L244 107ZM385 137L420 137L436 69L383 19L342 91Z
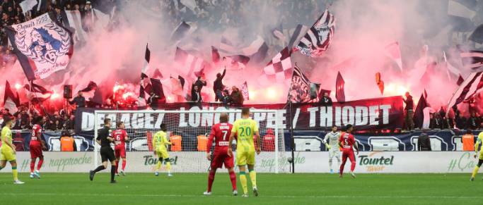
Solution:
M483 71L477 73L470 73L462 82L460 87L456 89L455 94L448 102L447 108L460 104L462 101L467 101L475 97L479 92L483 91Z

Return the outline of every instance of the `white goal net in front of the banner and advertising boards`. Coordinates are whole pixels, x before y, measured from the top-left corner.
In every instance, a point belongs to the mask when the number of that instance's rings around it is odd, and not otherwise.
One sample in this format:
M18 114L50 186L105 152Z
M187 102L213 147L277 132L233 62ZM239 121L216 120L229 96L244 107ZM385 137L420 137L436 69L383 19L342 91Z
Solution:
M167 145L171 173L206 173L210 168L210 161L206 158L206 144L208 143L211 127L219 123L221 113L228 114L228 123L233 124L240 119L241 110L217 108L216 111L200 111L194 106L190 111L181 108L180 111L143 110L143 111L95 111L95 137L98 130L104 127L104 119L111 119L111 130L115 132L117 122L124 123L129 141L125 142L127 173L151 173L156 171L158 157L153 154L152 140L156 132L161 131L160 125L168 126L166 139L175 142L175 146ZM284 129L282 128L281 113L276 110L250 109L250 118L257 121L260 132L262 153L255 154L255 170L259 173L288 173L286 163ZM279 125L277 128L276 125ZM233 140L235 144L235 140ZM211 147L213 151L214 145ZM95 143L94 163L101 163L100 146ZM236 165L236 147L233 146ZM121 159L122 161L122 159ZM109 166L108 166L109 167ZM121 170L121 163L119 170ZM238 167L235 166L235 170ZM109 168L107 170L109 171ZM166 163L161 165L161 173L166 173ZM226 168L217 172L227 172Z

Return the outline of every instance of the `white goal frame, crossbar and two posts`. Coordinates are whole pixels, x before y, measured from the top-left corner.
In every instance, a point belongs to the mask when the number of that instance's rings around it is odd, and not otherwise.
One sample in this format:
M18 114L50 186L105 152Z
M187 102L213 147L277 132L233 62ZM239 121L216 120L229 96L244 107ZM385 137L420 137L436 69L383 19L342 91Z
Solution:
M223 111L164 111L164 110L142 110L142 111L105 111L105 110L95 110L94 111L94 119L98 120L98 113L241 113L240 110L223 110ZM275 114L275 125L276 129L274 129L274 134L275 136L279 136L279 111L277 110L263 110L263 109L250 109L250 113L274 113ZM98 137L98 123L94 123L94 139ZM274 140L275 141L275 156L279 156L279 140ZM98 146L94 146L94 167L98 166ZM275 173L279 173L279 160L275 159Z

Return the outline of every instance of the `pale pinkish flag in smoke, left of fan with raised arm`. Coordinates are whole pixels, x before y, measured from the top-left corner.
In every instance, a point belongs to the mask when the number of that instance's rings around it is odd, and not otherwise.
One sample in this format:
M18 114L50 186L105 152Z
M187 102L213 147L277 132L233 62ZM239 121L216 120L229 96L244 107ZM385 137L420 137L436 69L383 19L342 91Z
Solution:
M176 48L175 63L179 65L179 75L185 80L194 80L204 69L211 69L211 65L202 58L192 56L180 48Z

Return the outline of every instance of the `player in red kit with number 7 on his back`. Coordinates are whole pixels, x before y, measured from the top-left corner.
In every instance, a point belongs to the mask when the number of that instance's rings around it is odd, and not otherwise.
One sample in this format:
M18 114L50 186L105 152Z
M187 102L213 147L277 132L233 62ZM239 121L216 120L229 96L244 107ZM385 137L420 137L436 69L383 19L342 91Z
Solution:
M225 164L225 168L228 168L228 173L230 173L233 196L238 194L236 190L236 175L235 171L233 171L233 156L228 156L228 147L231 147L231 144L228 144L228 138L231 135L232 128L233 125L228 123L228 114L226 113L221 113L220 123L211 127L211 134L209 135L208 144L206 145L208 148L206 149L206 158L211 161L211 170L209 170L208 175L208 191L204 192L204 195L211 195L211 185L213 185L215 180L216 169L222 168L223 163ZM213 139L215 139L216 144L213 159L211 159L209 151L211 150Z

